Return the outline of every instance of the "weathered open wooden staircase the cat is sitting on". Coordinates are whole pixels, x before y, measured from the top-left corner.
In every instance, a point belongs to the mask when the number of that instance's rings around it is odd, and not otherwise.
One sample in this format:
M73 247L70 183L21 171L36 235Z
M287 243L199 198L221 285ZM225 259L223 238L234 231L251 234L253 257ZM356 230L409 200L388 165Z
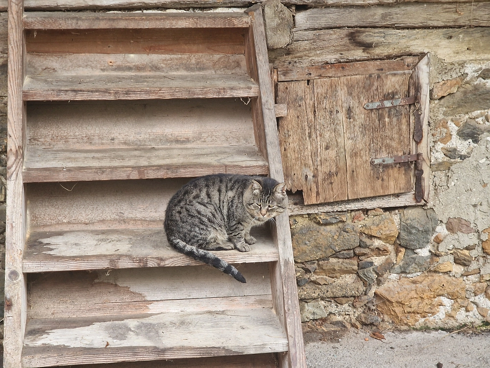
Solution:
M9 1L8 57L4 367L306 367L287 213L216 252L246 284L163 230L189 178L284 180L260 6Z

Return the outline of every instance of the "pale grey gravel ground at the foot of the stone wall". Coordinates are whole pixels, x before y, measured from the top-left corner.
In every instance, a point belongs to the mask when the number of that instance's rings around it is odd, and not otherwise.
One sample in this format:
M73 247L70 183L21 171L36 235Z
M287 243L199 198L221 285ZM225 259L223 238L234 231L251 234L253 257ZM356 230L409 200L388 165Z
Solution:
M412 331L384 336L386 343L351 329L339 342L308 342L308 368L436 368L438 363L443 368L490 368L490 333Z

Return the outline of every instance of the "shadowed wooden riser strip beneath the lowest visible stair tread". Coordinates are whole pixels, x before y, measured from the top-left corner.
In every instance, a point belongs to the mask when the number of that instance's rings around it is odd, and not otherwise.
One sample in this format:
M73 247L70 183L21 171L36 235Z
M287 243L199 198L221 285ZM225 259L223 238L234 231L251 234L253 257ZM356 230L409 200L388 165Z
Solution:
M174 359L139 363L81 365L77 368L277 368L275 354L234 355L214 358ZM50 367L54 368L54 367Z

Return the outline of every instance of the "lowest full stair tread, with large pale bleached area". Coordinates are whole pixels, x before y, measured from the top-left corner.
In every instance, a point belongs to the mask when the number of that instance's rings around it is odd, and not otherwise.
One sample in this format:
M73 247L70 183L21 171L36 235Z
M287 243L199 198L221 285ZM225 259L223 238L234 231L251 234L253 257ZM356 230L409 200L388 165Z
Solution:
M288 340L270 308L31 319L24 368L271 353Z

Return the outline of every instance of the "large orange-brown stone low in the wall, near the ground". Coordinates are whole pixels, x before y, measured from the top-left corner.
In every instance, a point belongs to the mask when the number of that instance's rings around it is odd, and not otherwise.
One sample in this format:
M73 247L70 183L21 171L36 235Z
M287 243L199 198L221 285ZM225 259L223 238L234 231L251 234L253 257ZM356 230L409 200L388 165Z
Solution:
M452 300L465 299L466 284L462 278L429 273L400 278L376 289L374 293L385 299L385 302L377 305L384 315L399 326L414 326L420 318L439 312L442 305L440 296Z

